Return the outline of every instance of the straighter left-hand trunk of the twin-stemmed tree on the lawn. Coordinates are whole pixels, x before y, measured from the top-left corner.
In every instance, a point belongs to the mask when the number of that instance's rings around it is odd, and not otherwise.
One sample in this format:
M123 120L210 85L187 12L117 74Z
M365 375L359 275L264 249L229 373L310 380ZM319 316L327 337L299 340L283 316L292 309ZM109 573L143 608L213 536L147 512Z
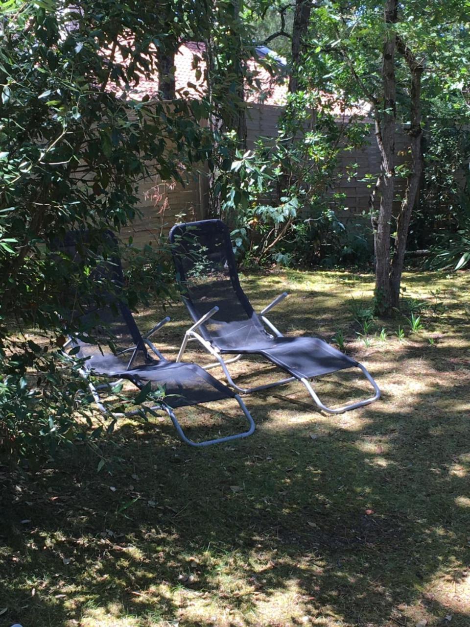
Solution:
M386 0L385 24L397 21L398 0ZM395 33L387 29L382 54L382 82L384 89L384 109L382 124L376 119L375 134L379 145L380 167L380 208L374 232L375 248L375 298L378 312L383 313L392 307L390 290L390 223L395 188L395 124L396 124L396 82L395 82Z

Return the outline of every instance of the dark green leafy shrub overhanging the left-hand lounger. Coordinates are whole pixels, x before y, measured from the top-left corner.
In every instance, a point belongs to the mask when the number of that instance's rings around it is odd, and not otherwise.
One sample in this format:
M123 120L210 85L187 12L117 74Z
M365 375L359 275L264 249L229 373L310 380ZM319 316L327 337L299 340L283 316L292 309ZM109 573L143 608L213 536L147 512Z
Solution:
M0 448L31 467L85 433L74 416L86 389L60 349L68 310L96 290L103 230L135 217L142 177L182 181L211 150L199 125L207 103L129 97L168 28L194 33L204 5L176 3L170 27L155 5L144 8L11 2L0 33ZM95 234L95 258L75 266L55 241L82 227ZM148 252L144 261L126 251L132 306L165 293L165 270Z

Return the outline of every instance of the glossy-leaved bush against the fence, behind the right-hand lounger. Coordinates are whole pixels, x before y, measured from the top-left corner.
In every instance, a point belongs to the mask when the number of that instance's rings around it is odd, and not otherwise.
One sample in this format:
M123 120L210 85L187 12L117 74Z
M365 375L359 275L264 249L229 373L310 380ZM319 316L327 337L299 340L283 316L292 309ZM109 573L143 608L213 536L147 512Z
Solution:
M332 188L340 144L360 144L366 129L338 124L333 104L315 92L291 95L276 140L236 152L219 177L222 215L246 263L333 265L354 253L359 240L338 220Z

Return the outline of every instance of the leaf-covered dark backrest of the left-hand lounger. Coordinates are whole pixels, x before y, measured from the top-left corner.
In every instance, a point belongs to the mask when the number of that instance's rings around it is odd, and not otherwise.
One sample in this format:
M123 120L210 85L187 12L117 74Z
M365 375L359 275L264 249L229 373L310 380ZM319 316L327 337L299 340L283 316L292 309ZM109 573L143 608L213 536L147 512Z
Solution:
M117 238L111 231L103 231L100 238L91 237L89 231L75 230L55 243L58 253L64 253L72 266L90 267L88 280L92 290L84 295L66 295L73 305L69 308L69 322L80 319L80 337L74 342L80 345L79 357L117 355L131 346L137 347L132 366L155 362L148 352L132 313L125 304L122 291L124 277L118 255ZM90 340L87 341L87 338ZM131 352L121 356L127 364Z

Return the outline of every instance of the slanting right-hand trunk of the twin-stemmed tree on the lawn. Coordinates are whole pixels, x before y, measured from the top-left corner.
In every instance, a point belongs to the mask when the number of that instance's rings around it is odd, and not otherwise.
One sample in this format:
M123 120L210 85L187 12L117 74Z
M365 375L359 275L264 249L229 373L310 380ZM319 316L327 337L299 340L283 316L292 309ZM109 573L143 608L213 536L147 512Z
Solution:
M411 75L411 125L409 130L411 144L411 174L407 179L405 196L397 217L397 236L395 238L392 270L390 272L390 302L398 307L400 298L400 282L405 259L406 241L412 209L417 199L421 175L423 171L422 128L421 128L421 75L424 70L422 63L416 60L412 51L397 38L397 48L404 55Z

